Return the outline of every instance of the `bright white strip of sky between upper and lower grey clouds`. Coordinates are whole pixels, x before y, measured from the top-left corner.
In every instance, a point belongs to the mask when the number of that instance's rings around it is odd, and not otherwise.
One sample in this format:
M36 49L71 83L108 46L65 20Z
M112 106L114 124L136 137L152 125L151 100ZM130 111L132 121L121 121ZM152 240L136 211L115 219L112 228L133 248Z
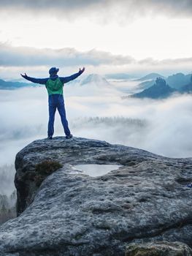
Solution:
M104 50L135 59L174 59L192 56L192 21L189 19L140 18L120 26L101 26L86 18L69 22L55 18L9 18L0 34L1 42L36 48Z

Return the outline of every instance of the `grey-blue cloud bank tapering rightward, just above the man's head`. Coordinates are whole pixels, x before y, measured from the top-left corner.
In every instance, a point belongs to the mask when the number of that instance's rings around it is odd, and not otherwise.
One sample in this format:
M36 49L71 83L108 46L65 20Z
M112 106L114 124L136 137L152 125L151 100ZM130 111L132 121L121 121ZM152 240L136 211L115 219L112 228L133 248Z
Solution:
M7 43L0 44L0 66L52 66L53 63L58 66L79 66L101 64L122 65L134 63L130 56L112 55L112 53L89 50L80 52L74 48L30 48L30 47L12 47Z

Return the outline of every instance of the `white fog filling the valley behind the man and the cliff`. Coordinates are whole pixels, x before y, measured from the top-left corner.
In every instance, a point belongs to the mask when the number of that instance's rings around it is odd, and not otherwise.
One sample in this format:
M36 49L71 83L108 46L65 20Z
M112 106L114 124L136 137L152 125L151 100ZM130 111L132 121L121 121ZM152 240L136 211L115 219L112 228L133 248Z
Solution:
M192 97L122 99L138 91L135 81L110 85L69 83L66 115L74 136L133 146L166 157L192 157ZM15 154L33 140L47 138L44 86L0 91L1 195L14 190ZM56 113L55 136L64 135ZM54 140L53 140L54 141Z

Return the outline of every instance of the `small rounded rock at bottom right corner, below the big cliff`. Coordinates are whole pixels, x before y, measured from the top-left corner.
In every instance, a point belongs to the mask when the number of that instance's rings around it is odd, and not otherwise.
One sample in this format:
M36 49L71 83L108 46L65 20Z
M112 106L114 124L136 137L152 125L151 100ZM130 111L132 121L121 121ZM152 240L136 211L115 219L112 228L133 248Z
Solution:
M191 256L192 249L180 242L169 243L166 241L129 244L126 256Z

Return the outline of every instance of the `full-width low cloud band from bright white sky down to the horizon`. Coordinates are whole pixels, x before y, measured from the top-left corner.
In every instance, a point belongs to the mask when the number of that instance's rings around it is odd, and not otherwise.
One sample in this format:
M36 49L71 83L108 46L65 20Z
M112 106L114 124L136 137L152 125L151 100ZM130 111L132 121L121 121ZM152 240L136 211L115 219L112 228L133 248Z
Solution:
M87 72L149 72L172 70L177 72L191 72L192 57L183 59L155 60L152 58L136 60L131 56L115 55L101 50L88 50L80 52L74 48L30 48L13 47L7 43L0 44L0 72L3 77L14 77L20 69L34 70L37 75L45 75L45 70L52 66L64 67L72 70L77 67L87 67ZM41 72L42 70L42 72ZM88 71L89 70L89 71ZM96 70L96 71L95 71ZM145 71L146 70L146 71ZM9 72L9 75L4 75Z

